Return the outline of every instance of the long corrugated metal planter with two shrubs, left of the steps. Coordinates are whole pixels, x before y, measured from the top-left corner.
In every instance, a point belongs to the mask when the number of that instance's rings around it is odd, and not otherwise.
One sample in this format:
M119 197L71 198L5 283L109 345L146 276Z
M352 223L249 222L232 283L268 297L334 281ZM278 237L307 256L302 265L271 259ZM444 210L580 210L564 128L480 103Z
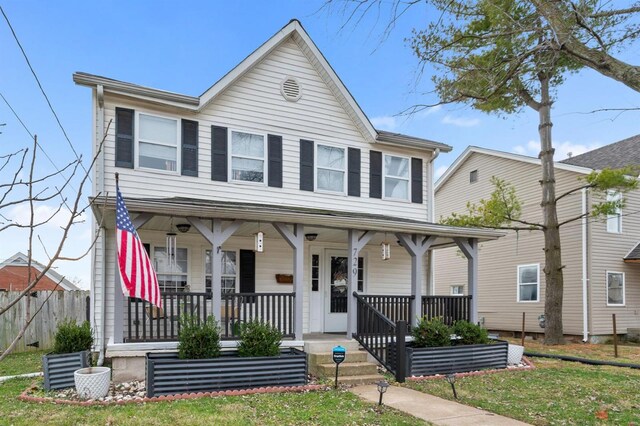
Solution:
M237 349L223 352L212 317L180 321L178 352L147 354L148 397L307 384L306 354L281 349L282 334L270 324L242 324Z

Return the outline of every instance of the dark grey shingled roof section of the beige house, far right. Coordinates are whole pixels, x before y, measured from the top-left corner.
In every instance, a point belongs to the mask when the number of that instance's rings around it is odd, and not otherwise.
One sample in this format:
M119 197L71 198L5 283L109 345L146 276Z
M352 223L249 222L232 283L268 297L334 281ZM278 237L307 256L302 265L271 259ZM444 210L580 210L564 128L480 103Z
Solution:
M602 170L640 166L640 135L562 160L561 163Z

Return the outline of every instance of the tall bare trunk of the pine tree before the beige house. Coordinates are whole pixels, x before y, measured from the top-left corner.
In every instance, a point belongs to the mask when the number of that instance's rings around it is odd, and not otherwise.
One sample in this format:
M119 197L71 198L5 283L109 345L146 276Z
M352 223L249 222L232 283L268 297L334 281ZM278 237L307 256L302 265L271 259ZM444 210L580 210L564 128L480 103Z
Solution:
M545 275L545 329L544 343L558 345L564 343L562 331L562 297L564 278L560 251L560 228L556 209L556 180L553 165L553 145L551 143L551 99L549 78L540 77L541 107L538 110L540 124L540 163L542 166L542 216L544 225L544 275Z

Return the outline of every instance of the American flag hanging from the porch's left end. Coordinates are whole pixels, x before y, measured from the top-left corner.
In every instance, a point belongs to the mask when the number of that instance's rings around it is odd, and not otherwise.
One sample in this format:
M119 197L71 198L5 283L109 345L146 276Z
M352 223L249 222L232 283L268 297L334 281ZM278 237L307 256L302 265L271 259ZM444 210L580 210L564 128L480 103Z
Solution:
M131 223L127 206L117 185L116 193L116 243L122 292L125 296L144 299L162 308L158 277Z

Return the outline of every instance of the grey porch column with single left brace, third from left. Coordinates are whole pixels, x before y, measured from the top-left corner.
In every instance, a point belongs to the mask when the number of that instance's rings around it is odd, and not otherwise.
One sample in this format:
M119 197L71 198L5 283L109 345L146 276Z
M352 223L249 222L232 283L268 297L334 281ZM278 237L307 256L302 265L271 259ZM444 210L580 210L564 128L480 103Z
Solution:
M304 306L304 226L296 223L289 225L274 222L273 227L293 249L293 288L296 293L293 325L295 339L302 340Z

